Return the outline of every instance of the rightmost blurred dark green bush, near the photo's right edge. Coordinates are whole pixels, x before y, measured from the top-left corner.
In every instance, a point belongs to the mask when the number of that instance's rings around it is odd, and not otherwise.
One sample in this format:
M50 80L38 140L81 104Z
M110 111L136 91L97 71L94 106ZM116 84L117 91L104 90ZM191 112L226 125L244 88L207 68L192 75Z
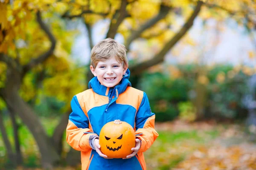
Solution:
M231 70L231 69L230 69ZM225 72L224 72L225 73ZM247 80L249 76L239 71L234 77L227 78L222 83L216 80L208 86L209 105L207 107L211 114L218 117L236 118L246 116L247 112L242 105L242 97L248 93ZM241 113L244 111L244 113Z

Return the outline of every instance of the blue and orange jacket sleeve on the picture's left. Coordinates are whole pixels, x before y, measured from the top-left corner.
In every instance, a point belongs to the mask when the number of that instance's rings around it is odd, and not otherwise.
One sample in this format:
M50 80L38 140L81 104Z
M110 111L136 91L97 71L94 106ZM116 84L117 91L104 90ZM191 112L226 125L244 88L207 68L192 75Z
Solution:
M66 140L75 150L88 151L91 149L89 139L97 135L89 129L89 119L79 105L76 96L71 100L72 113L70 113L66 130Z

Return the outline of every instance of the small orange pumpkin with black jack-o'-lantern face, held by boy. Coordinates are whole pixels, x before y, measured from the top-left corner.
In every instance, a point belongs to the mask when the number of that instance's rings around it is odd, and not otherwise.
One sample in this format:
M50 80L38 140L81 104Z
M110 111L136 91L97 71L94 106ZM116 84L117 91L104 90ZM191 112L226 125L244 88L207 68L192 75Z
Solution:
M99 133L100 150L108 158L125 158L135 147L135 132L130 124L115 120L106 123Z

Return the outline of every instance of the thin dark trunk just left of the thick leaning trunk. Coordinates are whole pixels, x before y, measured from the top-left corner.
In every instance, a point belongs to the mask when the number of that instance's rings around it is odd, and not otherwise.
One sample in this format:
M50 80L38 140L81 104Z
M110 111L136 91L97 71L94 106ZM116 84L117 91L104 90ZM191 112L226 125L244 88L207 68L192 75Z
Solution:
M10 111L9 113L12 120L13 136L15 140L16 162L17 162L17 165L21 165L23 164L23 157L20 152L20 141L19 141L20 138L18 133L19 126L17 125L16 119L15 119L15 113L13 113L12 111Z

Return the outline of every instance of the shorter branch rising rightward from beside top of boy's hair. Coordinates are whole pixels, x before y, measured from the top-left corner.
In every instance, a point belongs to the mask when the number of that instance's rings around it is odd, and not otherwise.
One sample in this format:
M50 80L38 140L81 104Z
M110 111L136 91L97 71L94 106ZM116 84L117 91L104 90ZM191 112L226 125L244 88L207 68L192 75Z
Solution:
M157 16L155 16L154 18L152 18L151 20L146 22L143 26L140 26L140 28L138 30L132 31L130 37L128 37L128 39L126 40L126 42L124 44L125 47L127 48L127 50L129 51L129 46L130 46L132 41L137 39L140 36L140 34L143 33L143 31L150 28L151 26L154 26L154 24L156 24L159 20L166 17L166 15L168 14L170 9L171 8L168 7L168 6L161 5L160 11L157 14Z

